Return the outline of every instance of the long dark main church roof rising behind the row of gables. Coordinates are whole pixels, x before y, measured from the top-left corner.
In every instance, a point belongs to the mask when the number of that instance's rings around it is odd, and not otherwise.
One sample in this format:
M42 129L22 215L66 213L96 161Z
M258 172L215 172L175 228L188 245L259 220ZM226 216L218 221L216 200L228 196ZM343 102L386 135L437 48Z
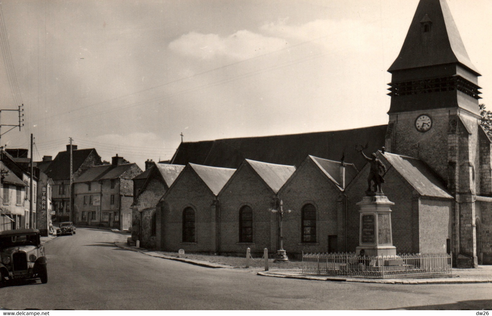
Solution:
M345 161L362 169L366 160L354 150L357 144L368 144L366 152L381 149L387 125L358 129L304 134L182 142L173 164L238 168L245 159L299 167L307 155Z

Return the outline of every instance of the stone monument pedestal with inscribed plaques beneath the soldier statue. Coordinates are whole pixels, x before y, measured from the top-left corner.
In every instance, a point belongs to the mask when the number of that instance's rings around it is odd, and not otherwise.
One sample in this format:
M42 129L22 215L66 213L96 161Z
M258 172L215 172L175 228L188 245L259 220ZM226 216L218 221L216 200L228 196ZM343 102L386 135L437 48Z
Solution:
M391 233L391 207L395 203L384 195L373 195L365 196L357 205L360 208L360 237L356 253L371 257L396 256Z

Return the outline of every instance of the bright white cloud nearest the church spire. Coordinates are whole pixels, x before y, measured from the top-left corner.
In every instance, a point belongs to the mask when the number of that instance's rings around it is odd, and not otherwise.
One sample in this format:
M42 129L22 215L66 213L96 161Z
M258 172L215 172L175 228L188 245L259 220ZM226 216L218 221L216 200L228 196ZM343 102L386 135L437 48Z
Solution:
M335 50L372 47L376 38L374 26L357 20L318 19L301 25L289 25L288 19L266 23L261 31L300 42L312 41ZM354 34L357 34L354 36Z

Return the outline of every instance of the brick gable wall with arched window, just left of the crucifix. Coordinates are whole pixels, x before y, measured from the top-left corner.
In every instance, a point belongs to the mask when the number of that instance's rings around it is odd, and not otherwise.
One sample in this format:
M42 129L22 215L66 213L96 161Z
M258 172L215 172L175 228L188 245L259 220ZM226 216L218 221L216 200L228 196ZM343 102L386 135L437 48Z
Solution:
M275 194L249 164L243 164L219 195L220 252L263 253L278 248L278 214L270 211ZM239 210L249 206L253 212L253 243L239 242ZM287 217L290 214L286 214Z

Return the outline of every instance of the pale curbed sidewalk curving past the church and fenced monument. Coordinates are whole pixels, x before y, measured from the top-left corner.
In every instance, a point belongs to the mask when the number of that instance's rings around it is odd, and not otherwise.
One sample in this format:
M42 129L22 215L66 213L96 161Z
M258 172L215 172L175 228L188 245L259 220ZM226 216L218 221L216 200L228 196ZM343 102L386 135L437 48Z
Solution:
M223 264L211 263L203 260L177 258L164 255L144 248L128 246L125 243L115 243L116 246L137 251L149 256L159 257L163 259L181 261L189 264L194 264L207 268L228 268L241 269L246 272L256 272L259 276L288 278L311 281L336 281L336 282L361 282L361 283L384 283L384 284L462 284L462 283L492 283L492 266L479 266L476 269L453 269L452 277L444 278L427 278L427 279L366 279L366 278L348 278L348 277L330 277L330 276L313 276L305 275L301 268L270 268L269 271L263 271L262 268L238 268Z

